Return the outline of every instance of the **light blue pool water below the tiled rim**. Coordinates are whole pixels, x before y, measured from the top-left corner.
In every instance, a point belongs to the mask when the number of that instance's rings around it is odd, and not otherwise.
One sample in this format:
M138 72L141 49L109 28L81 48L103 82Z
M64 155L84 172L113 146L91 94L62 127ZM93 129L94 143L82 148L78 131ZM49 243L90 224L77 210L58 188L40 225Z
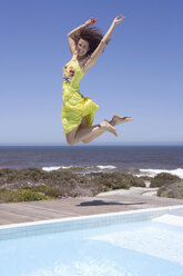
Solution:
M146 220L0 241L0 276L183 276L183 226Z

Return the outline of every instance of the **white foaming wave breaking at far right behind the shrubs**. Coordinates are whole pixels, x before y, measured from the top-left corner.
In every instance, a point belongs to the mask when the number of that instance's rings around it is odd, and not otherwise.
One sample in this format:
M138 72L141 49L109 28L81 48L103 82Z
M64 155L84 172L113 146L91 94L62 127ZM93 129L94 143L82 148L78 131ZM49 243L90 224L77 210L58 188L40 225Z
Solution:
M177 168L177 169L140 169L140 175L138 174L136 176L154 177L161 172L166 172L166 174L171 174L174 176L179 176L180 178L183 178L183 169L181 168Z

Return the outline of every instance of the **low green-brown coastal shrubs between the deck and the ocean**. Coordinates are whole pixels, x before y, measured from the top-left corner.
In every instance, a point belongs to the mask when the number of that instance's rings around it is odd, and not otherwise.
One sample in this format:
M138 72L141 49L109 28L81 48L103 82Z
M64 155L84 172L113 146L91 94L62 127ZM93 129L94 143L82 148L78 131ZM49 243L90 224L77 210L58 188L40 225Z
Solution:
M159 187L157 196L183 198L183 181L170 174L146 178L124 172L78 174L72 169L4 168L0 169L0 203L95 196L113 189L145 187L146 179L151 180L151 187Z

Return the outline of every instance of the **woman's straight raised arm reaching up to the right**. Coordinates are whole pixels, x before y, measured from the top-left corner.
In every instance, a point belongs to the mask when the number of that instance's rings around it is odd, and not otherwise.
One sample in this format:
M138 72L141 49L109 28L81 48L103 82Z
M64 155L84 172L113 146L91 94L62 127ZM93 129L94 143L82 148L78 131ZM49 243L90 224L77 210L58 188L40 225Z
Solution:
M114 27L122 22L124 20L124 17L121 14L121 18L119 19L119 17L114 18L111 27L109 28L109 30L106 31L106 33L104 34L104 37L102 38L101 42L99 43L98 48L94 50L94 52L91 55L90 59L87 61L85 63L85 69L88 70L90 67L92 67L93 65L95 65L95 62L98 61L99 57L101 56L101 53L103 52L103 49L105 47L105 45L109 42L111 34L113 32Z

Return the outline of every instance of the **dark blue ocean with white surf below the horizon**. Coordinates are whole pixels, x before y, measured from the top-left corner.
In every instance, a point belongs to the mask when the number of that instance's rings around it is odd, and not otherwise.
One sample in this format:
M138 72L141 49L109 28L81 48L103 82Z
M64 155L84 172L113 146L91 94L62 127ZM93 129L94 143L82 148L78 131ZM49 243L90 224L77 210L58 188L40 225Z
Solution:
M39 167L91 171L136 171L183 178L183 146L1 146L0 169Z

